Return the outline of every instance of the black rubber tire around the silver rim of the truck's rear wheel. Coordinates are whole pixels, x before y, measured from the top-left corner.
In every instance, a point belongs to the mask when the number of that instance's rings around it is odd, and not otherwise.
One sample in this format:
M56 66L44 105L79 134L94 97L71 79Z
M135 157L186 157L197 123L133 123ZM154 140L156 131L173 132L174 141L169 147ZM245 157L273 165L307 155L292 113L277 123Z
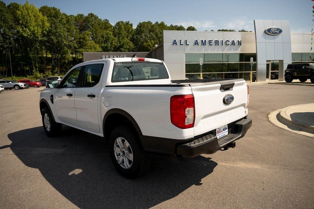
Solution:
M132 149L133 161L131 167L128 169L123 168L118 163L114 152L114 144L116 139L119 137L127 140ZM134 131L127 126L118 126L112 130L109 138L109 152L113 165L124 177L136 178L147 173L149 170L151 156L149 153L143 150L138 138L138 134L134 133Z

